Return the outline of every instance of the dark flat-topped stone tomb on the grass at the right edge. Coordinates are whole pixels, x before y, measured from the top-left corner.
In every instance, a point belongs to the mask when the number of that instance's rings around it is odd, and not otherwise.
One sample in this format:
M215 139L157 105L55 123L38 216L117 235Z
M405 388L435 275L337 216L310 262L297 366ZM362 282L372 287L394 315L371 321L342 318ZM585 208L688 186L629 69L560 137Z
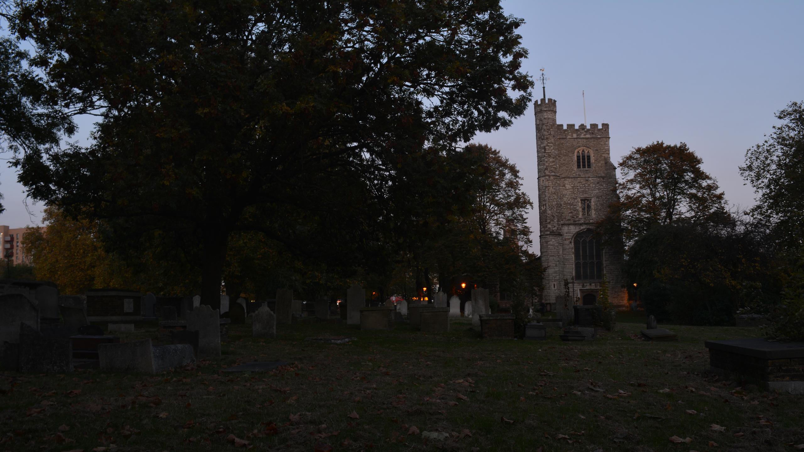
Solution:
M704 345L712 372L741 376L770 391L804 394L804 342L728 339Z

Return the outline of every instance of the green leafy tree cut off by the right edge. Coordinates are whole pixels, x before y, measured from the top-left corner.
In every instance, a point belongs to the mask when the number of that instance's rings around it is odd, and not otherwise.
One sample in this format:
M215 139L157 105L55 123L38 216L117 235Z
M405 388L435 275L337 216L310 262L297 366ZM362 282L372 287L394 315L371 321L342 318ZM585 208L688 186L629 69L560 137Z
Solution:
M754 187L752 214L770 226L781 249L798 253L804 240L804 102L790 102L781 125L745 153L740 175Z

